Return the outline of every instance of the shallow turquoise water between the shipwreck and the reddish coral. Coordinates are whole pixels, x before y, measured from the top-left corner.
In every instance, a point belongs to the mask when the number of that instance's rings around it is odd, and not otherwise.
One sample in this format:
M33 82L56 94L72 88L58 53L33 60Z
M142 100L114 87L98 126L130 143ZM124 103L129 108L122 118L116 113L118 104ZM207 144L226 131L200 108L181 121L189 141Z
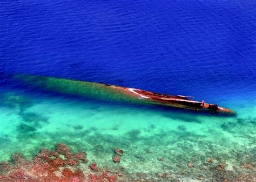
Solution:
M32 158L42 147L63 142L86 151L100 167L124 166L136 179L158 179L159 172L172 179L214 179L219 163L232 176L251 173L242 164L255 162L255 101L224 102L237 116L223 117L41 90L5 87L0 95L0 161L15 152ZM112 162L113 148L124 150L118 164ZM213 163L206 165L207 158Z

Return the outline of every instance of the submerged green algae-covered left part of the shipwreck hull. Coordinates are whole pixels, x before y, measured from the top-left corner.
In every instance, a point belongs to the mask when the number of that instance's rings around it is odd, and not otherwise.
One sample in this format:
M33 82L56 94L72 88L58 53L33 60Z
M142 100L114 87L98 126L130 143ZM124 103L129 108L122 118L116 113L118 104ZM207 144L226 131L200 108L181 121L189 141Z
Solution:
M136 99L109 85L96 82L54 78L35 75L15 75L15 78L35 87L68 95L96 98L107 101L132 101ZM138 102L138 101L137 101Z

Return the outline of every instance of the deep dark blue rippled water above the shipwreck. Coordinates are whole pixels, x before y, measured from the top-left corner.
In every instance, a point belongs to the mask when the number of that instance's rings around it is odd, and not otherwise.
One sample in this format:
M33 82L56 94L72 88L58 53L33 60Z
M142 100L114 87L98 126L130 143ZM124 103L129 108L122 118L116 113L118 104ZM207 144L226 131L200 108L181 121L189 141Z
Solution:
M255 9L254 1L2 1L0 71L255 99Z

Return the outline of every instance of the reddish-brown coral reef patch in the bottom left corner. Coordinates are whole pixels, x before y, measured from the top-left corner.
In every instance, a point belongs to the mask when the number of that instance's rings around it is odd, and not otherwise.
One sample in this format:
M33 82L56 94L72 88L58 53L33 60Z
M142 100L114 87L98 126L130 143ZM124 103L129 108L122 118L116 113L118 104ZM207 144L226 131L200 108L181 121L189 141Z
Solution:
M72 154L68 145L56 144L55 150L42 148L32 161L22 153L11 156L12 162L2 162L1 181L116 181L118 176L105 169L100 170L96 163L83 169L87 162L85 152ZM93 172L92 172L93 171Z

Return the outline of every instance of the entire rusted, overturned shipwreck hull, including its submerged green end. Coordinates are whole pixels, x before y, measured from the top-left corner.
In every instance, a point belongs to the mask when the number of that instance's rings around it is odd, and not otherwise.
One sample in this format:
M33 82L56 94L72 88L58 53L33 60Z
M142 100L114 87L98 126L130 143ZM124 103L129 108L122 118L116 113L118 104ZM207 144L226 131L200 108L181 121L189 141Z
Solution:
M204 101L194 101L191 100L193 97L190 96L159 94L136 88L48 76L15 75L15 78L28 85L62 94L91 97L101 100L149 103L196 111L208 110L214 113L234 114L231 109L219 107L217 104L205 103Z

